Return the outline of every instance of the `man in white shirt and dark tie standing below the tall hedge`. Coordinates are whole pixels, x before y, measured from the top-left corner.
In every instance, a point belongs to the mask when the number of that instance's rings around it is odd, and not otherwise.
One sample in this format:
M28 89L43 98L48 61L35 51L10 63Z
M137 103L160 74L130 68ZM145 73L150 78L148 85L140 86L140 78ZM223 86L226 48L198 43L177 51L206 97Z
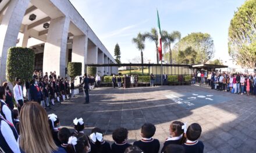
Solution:
M20 112L20 109L23 106L23 92L22 92L22 86L20 83L20 78L17 77L16 79L16 85L13 88L14 98L18 105L18 110Z

